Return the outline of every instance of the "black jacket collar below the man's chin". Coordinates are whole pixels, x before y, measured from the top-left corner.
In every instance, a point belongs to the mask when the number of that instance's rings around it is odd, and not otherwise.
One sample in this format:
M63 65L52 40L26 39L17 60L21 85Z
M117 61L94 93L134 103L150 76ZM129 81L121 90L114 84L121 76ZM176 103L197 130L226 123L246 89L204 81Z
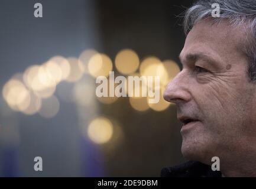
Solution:
M161 177L222 177L221 171L212 171L209 165L188 161L182 165L163 168Z

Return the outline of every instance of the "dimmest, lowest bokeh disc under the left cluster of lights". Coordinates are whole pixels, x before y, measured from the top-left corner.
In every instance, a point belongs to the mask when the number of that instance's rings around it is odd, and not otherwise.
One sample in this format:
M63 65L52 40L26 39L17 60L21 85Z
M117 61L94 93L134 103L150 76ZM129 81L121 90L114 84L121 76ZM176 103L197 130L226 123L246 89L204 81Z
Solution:
M42 100L42 105L38 113L44 118L53 118L60 109L60 102L56 96L51 96Z

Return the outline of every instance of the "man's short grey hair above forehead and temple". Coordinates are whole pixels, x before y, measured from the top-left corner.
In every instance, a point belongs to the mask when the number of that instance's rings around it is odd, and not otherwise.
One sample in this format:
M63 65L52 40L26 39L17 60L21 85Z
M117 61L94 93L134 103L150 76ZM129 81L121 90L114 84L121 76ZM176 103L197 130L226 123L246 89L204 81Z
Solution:
M212 17L212 4L219 4L220 17ZM189 31L203 19L210 19L213 23L228 19L236 27L242 25L247 29L245 43L241 50L248 58L249 81L256 82L256 1L255 0L199 0L187 9L184 15L184 32Z

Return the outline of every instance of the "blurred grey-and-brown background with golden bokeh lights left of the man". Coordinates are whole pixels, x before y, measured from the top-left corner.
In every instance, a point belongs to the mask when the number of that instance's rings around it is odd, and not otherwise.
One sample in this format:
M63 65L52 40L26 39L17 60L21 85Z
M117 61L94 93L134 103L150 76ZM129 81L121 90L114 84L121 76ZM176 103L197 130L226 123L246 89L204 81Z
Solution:
M180 71L179 14L192 4L1 0L0 176L158 177L184 162L174 105L96 97L95 79L160 76L162 94Z

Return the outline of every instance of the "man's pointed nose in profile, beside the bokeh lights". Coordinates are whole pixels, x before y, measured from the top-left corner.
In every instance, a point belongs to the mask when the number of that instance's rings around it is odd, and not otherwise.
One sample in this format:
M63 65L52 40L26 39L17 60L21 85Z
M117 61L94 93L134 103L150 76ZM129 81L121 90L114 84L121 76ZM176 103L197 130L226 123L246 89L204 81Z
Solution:
M184 71L184 70L183 70ZM191 94L189 92L189 80L186 77L186 73L181 71L167 84L163 97L166 101L175 103L189 102Z

